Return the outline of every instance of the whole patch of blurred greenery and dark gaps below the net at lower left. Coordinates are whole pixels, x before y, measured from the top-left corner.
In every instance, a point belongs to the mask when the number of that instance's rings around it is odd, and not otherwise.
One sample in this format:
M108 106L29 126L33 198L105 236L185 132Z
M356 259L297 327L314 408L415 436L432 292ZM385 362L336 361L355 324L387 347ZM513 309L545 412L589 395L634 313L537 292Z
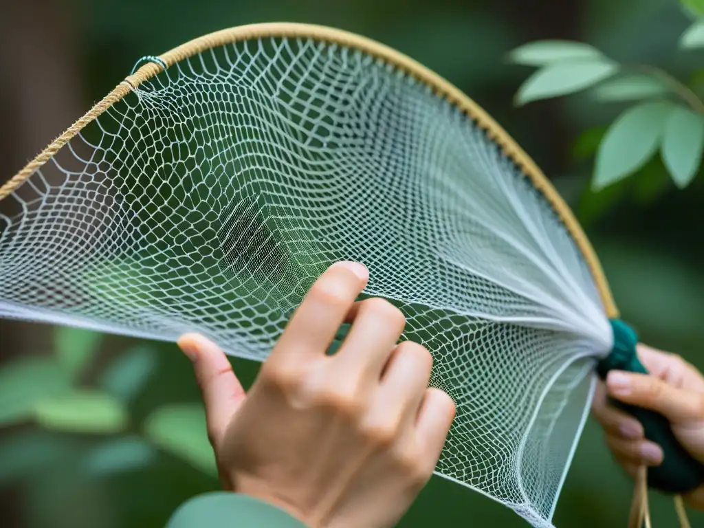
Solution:
M0 485L19 486L30 526L160 526L217 486L190 363L130 339L106 353L110 339L56 327L54 351L0 370Z

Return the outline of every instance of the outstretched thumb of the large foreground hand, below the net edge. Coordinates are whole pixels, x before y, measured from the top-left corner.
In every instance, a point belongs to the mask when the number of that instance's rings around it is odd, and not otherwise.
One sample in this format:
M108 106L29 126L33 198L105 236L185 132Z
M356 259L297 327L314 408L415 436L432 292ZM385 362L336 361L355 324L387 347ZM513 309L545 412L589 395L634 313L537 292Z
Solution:
M222 440L246 394L227 356L213 341L200 334L185 334L178 340L178 346L193 362L206 407L208 437L215 446Z

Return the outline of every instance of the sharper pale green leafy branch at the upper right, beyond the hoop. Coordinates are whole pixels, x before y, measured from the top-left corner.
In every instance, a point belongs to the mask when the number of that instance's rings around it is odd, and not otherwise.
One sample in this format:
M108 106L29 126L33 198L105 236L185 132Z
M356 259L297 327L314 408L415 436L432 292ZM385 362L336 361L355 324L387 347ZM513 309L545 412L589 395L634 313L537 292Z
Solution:
M693 23L681 49L704 48L704 0L682 0ZM651 65L624 65L583 42L541 40L514 49L509 61L536 67L515 95L522 106L589 90L602 103L630 103L596 149L592 188L601 190L642 170L660 151L679 189L702 166L704 102L688 84Z

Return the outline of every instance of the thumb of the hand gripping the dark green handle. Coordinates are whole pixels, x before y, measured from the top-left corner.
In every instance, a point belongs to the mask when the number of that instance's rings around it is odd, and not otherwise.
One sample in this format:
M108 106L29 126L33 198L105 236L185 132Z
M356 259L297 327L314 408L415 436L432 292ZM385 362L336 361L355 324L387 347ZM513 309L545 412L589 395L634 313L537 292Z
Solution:
M613 398L654 410L673 424L704 420L704 394L678 389L657 377L612 371L606 386Z

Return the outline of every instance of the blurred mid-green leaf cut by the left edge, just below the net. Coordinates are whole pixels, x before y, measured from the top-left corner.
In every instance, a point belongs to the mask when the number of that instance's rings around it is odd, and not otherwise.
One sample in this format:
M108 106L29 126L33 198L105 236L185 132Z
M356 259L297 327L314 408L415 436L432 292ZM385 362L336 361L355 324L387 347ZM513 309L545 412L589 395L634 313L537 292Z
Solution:
M0 424L30 420L37 401L68 391L70 377L56 358L12 360L0 369Z

